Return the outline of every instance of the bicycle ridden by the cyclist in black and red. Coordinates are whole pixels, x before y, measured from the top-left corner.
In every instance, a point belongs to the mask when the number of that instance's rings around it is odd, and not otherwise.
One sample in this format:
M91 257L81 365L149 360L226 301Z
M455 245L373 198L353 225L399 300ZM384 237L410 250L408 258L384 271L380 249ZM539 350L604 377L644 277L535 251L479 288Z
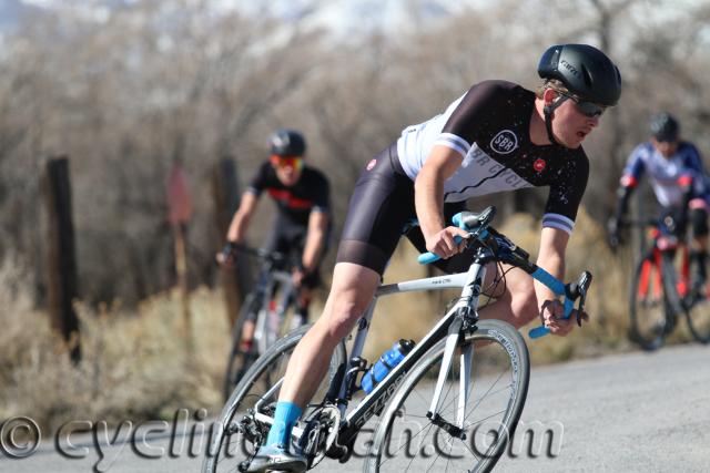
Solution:
M242 304L232 330L232 346L224 376L225 400L254 361L288 331L291 323L287 318L295 317L290 309L295 309L298 298L298 288L293 284L290 270L294 267L293 258L242 245L236 246L236 249L256 257L261 261L261 270L254 289ZM242 331L247 320L254 322L254 337L248 345L242 343Z

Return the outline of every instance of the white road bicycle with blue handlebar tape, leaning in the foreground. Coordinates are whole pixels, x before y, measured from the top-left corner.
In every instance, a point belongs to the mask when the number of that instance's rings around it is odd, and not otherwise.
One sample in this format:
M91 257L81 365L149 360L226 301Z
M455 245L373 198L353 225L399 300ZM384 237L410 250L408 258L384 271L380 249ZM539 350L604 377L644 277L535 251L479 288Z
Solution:
M495 208L462 213L455 223L470 234L476 256L466 273L381 286L359 320L348 358L341 342L328 374L293 429L293 442L308 469L326 456L347 462L357 435L379 417L364 471L490 471L515 433L529 382L523 336L501 320L479 320L478 299L489 263L524 269L565 297L566 316L579 299L582 312L591 275L564 285L528 259L528 254L496 232ZM415 290L462 288L453 307L368 393L359 380L371 364L362 358L379 297ZM578 322L580 322L578 320ZM283 373L307 327L287 335L252 366L234 389L212 432L203 472L245 471L273 423ZM547 332L534 329L531 337ZM456 361L456 362L455 362ZM262 382L268 373L275 382ZM347 410L351 401L357 405Z

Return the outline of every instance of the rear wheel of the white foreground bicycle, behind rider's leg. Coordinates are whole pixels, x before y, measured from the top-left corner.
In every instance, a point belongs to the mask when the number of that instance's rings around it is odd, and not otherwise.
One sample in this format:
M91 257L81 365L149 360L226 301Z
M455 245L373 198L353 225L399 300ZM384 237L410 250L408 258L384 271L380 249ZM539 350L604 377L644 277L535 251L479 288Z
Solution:
M297 330L290 332L286 337L276 341L264 354L262 354L248 369L248 371L244 374L244 377L240 380L236 388L233 390L230 399L225 403L220 417L213 424L213 431L210 434L210 444L207 446L207 451L205 453L204 461L202 463L202 472L203 473L216 473L219 471L230 471L234 472L236 470L236 465L240 463L240 460L234 460L234 462L229 462L229 465L220 465L225 459L232 460L232 455L230 454L231 446L240 446L236 445L239 443L239 439L236 441L232 441L232 435L235 432L232 431L231 426L235 423L239 423L242 419L247 418L248 415L244 412L245 409L251 409L253 405L248 405L248 402L245 400L254 400L262 399L263 393L252 393L252 388L256 388L257 390L261 387L260 377L265 376L263 380L265 382L265 390L272 388L271 379L278 377L280 368L285 369L291 352L295 348L295 346L301 341L306 331L312 327L312 325L303 326ZM286 356L283 360L282 357ZM331 363L328 368L328 374L321 382L318 390L316 391L316 397L314 399L321 399L321 394L325 395L325 392L328 389L329 382L335 376L337 368L345 363L347 359L345 343L341 342L337 345L335 351L333 352L333 357L331 358ZM280 361L284 363L281 364ZM278 390L273 393L273 398L278 397ZM275 404L275 400L270 403L270 407ZM304 409L302 419L307 419L310 413L312 412L313 405L308 405ZM303 426L303 425L301 425ZM257 425L263 433L262 440L266 432L268 431L267 425ZM243 441L248 442L247 439L243 439ZM227 442L225 444L225 441ZM244 459L246 454L253 453L260 445L251 444L251 452L245 453L246 445L244 443L241 444L242 453L244 454ZM242 459L242 460L244 460ZM221 470L219 470L221 469Z

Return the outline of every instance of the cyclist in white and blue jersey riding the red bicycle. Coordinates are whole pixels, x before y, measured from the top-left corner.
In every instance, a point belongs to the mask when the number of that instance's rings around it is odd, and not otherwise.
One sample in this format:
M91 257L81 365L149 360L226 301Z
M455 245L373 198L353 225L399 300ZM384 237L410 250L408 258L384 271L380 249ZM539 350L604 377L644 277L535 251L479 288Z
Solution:
M609 220L609 243L619 245L619 222L627 212L629 198L646 174L661 206L663 216L671 216L681 235L688 224L692 229L691 259L697 274L693 281L702 287L707 280L708 207L710 186L702 156L690 142L681 140L680 123L668 112L651 116L650 137L639 144L623 168L618 191L617 210Z

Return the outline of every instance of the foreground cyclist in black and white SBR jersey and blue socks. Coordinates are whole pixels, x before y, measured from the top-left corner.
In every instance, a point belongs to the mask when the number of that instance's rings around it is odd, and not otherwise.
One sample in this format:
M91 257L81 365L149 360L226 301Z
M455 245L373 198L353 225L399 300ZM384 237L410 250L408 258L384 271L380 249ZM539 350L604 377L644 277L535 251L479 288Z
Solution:
M506 81L475 84L435 117L408 126L364 167L351 199L325 310L296 347L276 404L274 424L248 471L302 470L291 429L325 374L336 345L369 305L403 228L420 250L444 259L446 271L468 268L450 217L469 197L549 187L537 264L562 279L565 249L587 185L581 143L621 94L621 76L601 51L586 44L549 48L538 65L537 93ZM510 269L510 268L506 268ZM495 277L495 270L487 275ZM520 269L507 273L496 302L480 310L520 327L540 317L552 333L572 325L552 292Z

